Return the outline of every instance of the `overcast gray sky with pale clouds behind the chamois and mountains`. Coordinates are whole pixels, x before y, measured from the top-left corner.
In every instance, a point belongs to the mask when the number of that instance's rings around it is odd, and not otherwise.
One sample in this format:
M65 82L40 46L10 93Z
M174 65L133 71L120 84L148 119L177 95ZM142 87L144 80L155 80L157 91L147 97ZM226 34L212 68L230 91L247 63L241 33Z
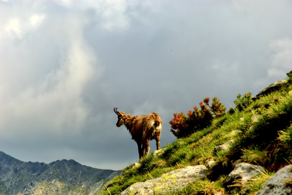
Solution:
M139 155L113 108L158 113L172 143L173 113L286 78L291 13L289 0L2 0L0 150L123 169Z

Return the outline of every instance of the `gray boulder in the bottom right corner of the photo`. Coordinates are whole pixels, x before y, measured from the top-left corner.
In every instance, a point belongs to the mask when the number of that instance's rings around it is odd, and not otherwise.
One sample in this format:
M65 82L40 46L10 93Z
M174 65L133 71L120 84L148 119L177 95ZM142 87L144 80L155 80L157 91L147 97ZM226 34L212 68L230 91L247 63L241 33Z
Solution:
M284 166L282 169L278 170L271 178L269 178L266 183L261 187L261 189L256 193L256 195L274 194L274 195L286 195L292 194L291 184L288 185L287 181L292 180L292 165Z

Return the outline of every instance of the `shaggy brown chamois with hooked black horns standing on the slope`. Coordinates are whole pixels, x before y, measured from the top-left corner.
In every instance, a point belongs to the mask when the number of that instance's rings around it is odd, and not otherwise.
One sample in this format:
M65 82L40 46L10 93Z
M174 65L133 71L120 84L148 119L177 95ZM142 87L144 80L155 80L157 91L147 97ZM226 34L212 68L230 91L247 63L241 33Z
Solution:
M151 113L147 116L131 116L123 112L117 111L114 108L114 112L118 115L117 127L122 125L126 126L132 135L132 140L138 145L139 160L143 156L148 156L150 147L149 141L155 139L157 150L160 149L160 134L162 121L157 113Z

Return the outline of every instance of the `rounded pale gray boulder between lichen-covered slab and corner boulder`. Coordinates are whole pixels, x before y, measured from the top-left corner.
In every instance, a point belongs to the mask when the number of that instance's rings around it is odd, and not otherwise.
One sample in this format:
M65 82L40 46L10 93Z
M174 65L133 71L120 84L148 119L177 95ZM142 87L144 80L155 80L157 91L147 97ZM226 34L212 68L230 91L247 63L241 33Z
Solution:
M240 184L244 184L246 181L254 178L255 176L261 174L261 172L264 172L265 168L262 166L258 166L258 165L253 165L253 164L249 164L249 163L238 163L237 165L235 165L234 170L231 171L231 173L229 173L229 175L226 178L226 185L233 185L235 184L234 181L238 180L240 181ZM239 188L238 187L230 187L230 189L234 189L234 188Z

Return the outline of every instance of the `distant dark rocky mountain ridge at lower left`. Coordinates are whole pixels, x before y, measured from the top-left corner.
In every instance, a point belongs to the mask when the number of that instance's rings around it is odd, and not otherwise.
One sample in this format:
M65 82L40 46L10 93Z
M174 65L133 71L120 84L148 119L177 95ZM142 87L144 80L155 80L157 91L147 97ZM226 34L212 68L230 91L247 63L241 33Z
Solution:
M23 162L0 151L1 194L94 194L121 171L96 169L75 160Z

